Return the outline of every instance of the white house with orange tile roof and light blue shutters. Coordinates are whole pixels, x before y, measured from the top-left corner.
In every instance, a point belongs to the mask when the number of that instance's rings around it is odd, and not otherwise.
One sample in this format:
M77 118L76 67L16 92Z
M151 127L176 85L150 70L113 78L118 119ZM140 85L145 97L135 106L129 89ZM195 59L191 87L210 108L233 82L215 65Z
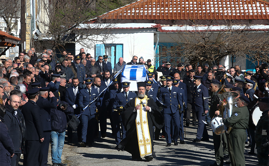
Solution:
M97 37L104 42L87 52L95 52L96 57L109 55L112 65L119 57L127 63L135 55L144 60L157 60L155 66L158 67L162 63L158 60L158 51L173 47L178 33L231 30L268 33L269 3L261 0L139 0L100 15L91 23L97 19L104 24L111 23L109 33L113 39L104 41ZM76 51L80 48L82 45L77 43ZM221 63L227 68L235 63L240 64L242 70L255 69L255 64L244 58L234 62L230 59L227 56Z

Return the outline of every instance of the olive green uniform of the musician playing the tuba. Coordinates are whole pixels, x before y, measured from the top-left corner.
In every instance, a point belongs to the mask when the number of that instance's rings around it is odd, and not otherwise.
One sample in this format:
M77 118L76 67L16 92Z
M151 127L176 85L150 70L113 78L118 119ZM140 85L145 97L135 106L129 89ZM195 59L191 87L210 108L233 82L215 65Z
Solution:
M226 126L231 126L232 130L226 133L229 156L232 165L245 165L245 140L247 139L246 129L249 124L249 110L246 106L233 106L233 113L230 118L223 119Z

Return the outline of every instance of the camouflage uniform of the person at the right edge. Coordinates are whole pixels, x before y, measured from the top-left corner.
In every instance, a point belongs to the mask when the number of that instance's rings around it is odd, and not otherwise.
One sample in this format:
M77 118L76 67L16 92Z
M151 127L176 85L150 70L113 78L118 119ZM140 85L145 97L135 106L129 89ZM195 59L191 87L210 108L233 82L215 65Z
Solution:
M268 110L262 113L260 120L256 126L255 131L255 141L256 141L256 149L258 155L258 164L259 166L268 166L269 165L269 148L268 144L266 146L262 146L265 143L268 143L269 138L269 118L268 118Z

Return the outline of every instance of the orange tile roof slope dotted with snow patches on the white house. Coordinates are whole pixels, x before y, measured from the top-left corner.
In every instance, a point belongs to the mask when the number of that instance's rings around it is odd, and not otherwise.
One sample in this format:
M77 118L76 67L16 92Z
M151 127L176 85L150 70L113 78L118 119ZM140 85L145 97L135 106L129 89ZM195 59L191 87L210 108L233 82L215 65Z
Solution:
M205 20L269 19L262 0L139 0L100 16L102 19Z

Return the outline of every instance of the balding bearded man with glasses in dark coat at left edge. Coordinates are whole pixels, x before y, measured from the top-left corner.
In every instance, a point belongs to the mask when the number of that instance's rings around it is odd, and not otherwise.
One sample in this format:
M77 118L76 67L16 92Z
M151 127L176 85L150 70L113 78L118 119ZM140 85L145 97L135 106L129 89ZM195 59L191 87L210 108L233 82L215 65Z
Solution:
M23 145L23 121L20 117L23 118L21 111L19 110L20 106L20 97L17 95L11 95L6 104L6 115L4 117L4 124L7 126L7 130L10 134L14 145L14 156L11 158L11 165L16 166L19 164L20 154Z

